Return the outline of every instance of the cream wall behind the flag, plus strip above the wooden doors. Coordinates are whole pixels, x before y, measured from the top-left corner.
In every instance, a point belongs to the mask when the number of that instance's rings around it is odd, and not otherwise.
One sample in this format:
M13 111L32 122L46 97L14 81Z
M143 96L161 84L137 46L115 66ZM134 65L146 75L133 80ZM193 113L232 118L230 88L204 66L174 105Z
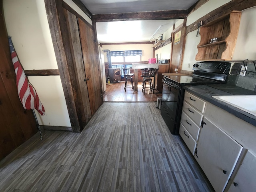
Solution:
M72 0L65 0L72 8L79 8ZM4 18L8 35L24 70L57 69L44 0L3 0ZM82 12L88 22L91 21ZM46 114L36 111L40 125L70 127L70 118L60 76L28 78L44 105Z

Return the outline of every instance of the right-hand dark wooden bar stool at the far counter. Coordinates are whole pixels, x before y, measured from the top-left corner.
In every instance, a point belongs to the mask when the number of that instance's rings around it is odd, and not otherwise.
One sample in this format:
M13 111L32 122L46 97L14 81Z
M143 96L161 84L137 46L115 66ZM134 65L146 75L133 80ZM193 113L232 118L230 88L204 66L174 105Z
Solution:
M142 80L142 92L145 94L145 90L150 90L153 92L154 94L154 85L152 83L152 77L155 77L156 74L156 69L154 68L144 68L141 69L142 75L141 77L143 77ZM147 86L148 84L148 86ZM149 88L149 89L146 89Z

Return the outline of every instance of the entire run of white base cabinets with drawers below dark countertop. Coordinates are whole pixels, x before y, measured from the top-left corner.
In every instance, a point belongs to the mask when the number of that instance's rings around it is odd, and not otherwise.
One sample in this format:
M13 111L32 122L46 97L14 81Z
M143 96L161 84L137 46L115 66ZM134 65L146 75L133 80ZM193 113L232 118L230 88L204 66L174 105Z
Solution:
M256 192L255 126L186 91L180 127L216 192Z

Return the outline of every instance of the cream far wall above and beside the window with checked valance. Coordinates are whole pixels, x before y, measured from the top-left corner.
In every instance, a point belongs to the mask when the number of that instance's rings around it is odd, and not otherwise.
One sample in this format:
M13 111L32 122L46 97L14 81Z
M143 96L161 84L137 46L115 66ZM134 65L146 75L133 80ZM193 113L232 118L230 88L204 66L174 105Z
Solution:
M120 44L120 45L102 45L103 49L110 51L127 51L127 50L142 50L142 61L148 61L153 56L153 44ZM105 62L108 61L106 53L104 54Z

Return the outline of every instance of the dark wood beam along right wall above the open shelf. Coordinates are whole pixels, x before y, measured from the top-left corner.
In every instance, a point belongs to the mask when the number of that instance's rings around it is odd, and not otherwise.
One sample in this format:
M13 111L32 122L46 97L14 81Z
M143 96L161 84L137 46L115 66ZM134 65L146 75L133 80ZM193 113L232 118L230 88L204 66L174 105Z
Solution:
M203 25L207 24L208 22L211 22L220 16L224 16L225 14L230 13L233 10L242 11L244 9L254 7L256 6L255 0L232 0L228 2L227 4L224 4L223 6L211 11L210 13L206 14L205 16L199 18L194 23L187 26L186 34L189 32L192 32L194 30L197 30L197 24L200 21L203 21Z

